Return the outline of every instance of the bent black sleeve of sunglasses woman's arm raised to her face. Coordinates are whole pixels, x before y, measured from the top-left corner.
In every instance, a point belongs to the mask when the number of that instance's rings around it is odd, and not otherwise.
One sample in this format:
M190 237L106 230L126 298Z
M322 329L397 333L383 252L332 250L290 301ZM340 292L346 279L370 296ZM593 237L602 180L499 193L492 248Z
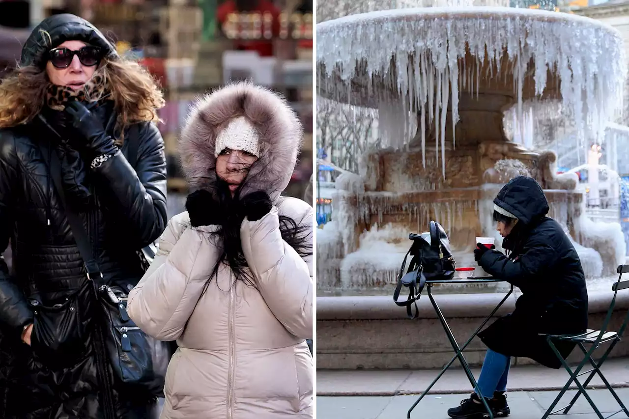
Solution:
M168 221L166 158L157 126L141 123L128 135L139 136L133 138L138 141L135 170L118 152L94 171L101 202L118 220L125 220L124 240L139 249L157 240Z

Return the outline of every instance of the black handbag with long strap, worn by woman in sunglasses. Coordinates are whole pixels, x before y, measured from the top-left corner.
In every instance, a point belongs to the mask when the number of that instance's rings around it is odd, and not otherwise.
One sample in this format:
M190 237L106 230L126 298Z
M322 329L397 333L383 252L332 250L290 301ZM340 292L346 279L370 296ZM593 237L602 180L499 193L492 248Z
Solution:
M81 253L87 271L86 281L97 287L96 309L103 318L104 347L116 381L123 383L128 391L164 396L166 369L170 362L170 343L161 342L142 332L126 311L126 291L101 284L101 273L92 253L92 245L81 217L75 213L65 199L61 181L61 166L56 152L51 153L51 175L61 203L64 206L72 234ZM96 328L97 330L98 328Z

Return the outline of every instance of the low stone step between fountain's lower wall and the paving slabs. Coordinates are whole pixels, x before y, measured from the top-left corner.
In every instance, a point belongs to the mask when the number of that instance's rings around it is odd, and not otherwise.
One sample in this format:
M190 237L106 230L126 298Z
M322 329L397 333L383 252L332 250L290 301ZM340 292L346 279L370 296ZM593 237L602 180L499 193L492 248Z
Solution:
M456 366L457 364L455 364ZM586 371L584 368L583 371ZM400 396L421 394L437 377L440 370L394 371L322 371L316 372L317 396ZM608 359L602 368L604 376L615 388L629 387L629 358ZM472 369L478 379L480 369ZM568 373L562 369L542 366L516 366L509 372L509 391L555 391L563 388ZM585 379L581 377L581 381ZM603 383L597 376L591 381L595 388ZM573 384L573 388L576 388ZM471 386L465 372L450 367L431 389L431 394L470 393ZM629 393L625 393L629 403ZM423 402L422 402L423 403ZM614 418L619 415L614 416ZM321 416L323 418L327 416ZM406 417L406 416L404 416ZM541 417L541 416L540 416ZM620 416L622 417L622 416ZM427 418L430 419L430 418ZM585 418L583 418L585 419Z

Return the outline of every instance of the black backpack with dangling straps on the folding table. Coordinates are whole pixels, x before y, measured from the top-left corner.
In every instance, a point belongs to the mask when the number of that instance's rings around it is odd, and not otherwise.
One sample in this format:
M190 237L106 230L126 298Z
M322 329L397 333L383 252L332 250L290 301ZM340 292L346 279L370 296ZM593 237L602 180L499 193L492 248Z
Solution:
M419 316L417 301L420 299L426 281L452 279L456 262L452 257L448 235L437 221L430 221L430 243L415 233L409 233L408 238L413 240L413 244L402 261L393 301L400 307L406 307L408 318L415 319ZM404 266L409 254L411 262L408 265L408 271L404 274ZM409 288L408 299L398 301L403 286ZM415 315L412 313L411 304L415 304Z

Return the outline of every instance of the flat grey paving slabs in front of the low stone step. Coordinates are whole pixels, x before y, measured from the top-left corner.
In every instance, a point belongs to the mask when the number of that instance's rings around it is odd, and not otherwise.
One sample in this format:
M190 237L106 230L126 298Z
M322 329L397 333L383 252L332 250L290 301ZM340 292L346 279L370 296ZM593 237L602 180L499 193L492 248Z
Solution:
M629 388L616 389L620 399L629 404ZM576 391L569 391L561 400L562 407L569 403ZM598 406L603 417L620 410L620 406L607 390L590 390L588 394ZM557 396L556 391L522 391L508 393L507 401L511 408L509 419L540 419L550 403ZM429 394L416 406L411 419L448 419L447 410L459 405L462 394ZM415 403L417 396L380 397L317 397L317 419L404 419L406 412ZM565 419L598 419L587 400L581 395L567 415L551 416ZM626 418L621 412L613 419Z

